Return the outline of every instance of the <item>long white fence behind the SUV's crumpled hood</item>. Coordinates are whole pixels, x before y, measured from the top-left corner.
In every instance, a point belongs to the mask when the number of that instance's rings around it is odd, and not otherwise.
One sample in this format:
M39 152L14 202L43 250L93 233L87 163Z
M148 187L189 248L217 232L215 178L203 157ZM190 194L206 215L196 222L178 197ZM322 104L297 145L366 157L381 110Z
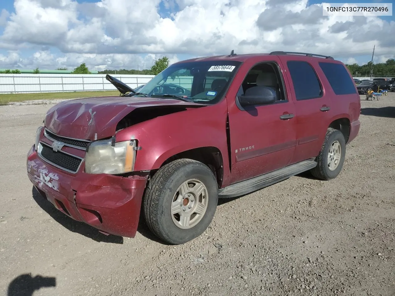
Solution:
M131 88L149 82L154 75L111 75ZM105 74L0 74L0 94L117 90Z

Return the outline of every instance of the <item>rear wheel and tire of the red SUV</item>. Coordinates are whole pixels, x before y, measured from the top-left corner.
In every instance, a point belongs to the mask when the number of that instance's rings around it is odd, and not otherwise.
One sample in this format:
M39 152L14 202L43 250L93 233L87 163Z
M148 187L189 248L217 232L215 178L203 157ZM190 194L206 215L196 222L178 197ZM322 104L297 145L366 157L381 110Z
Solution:
M331 146L339 145L340 152L337 150L337 154L329 157ZM336 162L329 161L329 158L337 158L340 155L340 159ZM346 156L346 141L344 140L343 134L333 128L327 129L324 144L322 145L320 154L316 157L317 166L310 170L311 174L320 180L331 180L336 178L342 170L344 164L344 158ZM328 163L329 161L329 163ZM331 168L329 167L331 165Z

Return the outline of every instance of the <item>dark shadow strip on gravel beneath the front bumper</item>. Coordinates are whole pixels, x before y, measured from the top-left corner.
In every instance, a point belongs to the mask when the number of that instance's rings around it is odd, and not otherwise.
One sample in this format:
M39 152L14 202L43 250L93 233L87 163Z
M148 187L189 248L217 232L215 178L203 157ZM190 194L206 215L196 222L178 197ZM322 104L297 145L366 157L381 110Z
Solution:
M100 233L96 228L91 227L85 223L75 221L67 215L60 212L58 209L45 199L33 186L32 189L33 199L37 204L47 212L56 222L72 232L76 232L90 238L96 242L106 242L113 244L123 244L122 236L108 235Z

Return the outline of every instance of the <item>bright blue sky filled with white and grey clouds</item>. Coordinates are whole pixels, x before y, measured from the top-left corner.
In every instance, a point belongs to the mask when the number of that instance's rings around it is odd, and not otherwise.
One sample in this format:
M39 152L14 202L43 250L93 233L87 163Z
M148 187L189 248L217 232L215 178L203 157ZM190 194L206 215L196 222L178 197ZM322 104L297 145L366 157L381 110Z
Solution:
M327 17L316 0L0 0L0 69L147 69L232 49L362 65L374 45L375 63L395 58L394 16Z

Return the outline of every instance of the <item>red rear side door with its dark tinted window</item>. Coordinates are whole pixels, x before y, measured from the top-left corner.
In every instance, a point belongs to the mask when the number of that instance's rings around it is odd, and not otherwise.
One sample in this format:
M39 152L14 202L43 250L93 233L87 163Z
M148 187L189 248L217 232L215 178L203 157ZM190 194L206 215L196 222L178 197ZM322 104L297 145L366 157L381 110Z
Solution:
M332 117L332 102L314 68L318 58L281 56L295 103L297 146L292 163L316 157Z

